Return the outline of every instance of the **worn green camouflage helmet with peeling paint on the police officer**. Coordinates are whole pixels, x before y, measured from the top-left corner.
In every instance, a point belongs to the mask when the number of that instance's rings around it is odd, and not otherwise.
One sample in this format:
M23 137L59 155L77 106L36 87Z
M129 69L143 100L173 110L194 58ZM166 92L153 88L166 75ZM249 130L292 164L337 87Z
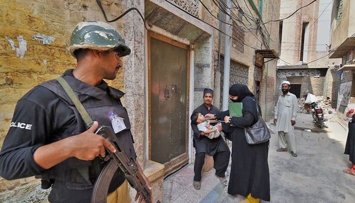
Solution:
M74 51L77 49L119 49L120 56L131 53L121 34L112 25L100 21L85 21L75 26L70 38L70 54L75 57Z

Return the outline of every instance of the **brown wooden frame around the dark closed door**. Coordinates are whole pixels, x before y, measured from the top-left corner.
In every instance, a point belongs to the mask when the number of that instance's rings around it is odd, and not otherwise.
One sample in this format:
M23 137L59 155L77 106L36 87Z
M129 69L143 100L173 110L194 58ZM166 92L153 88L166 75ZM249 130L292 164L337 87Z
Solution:
M152 140L152 127L151 127L151 38L163 41L165 43L168 43L172 46L180 47L182 49L187 50L187 88L186 88L186 94L187 94L187 103L186 103L186 149L185 153L183 153L180 156L177 156L173 158L171 161L168 163L163 163L165 166L165 172L164 172L164 178L168 176L169 174L179 170L183 165L189 163L190 160L190 148L191 148L191 142L190 142L190 85L191 85L191 48L189 45L177 42L171 38L168 38L166 36L162 36L156 32L153 31L147 31L147 63L148 63L148 157L151 160L151 140Z

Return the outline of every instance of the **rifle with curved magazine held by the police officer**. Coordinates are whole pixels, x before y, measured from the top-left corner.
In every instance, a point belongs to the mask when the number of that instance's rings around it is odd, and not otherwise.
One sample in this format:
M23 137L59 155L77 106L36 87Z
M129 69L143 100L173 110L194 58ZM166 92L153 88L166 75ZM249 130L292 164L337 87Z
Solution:
M95 182L91 196L91 203L107 202L107 193L110 185L108 183L110 183L118 168L124 173L128 183L146 200L147 203L151 203L151 192L146 181L141 174L138 173L138 165L123 151L113 129L110 126L103 125L98 127L95 133L108 140L116 148L116 152L112 153L110 150L106 149L108 155L103 159L109 162L103 167L103 170ZM157 203L160 203L160 201L158 200Z

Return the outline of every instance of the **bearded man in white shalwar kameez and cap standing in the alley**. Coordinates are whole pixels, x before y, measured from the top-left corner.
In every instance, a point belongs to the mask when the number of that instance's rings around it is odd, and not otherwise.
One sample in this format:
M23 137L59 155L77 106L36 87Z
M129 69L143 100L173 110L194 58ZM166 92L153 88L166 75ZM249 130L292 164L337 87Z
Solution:
M281 83L282 94L278 97L274 123L278 133L278 152L291 151L293 157L297 157L294 125L297 117L297 97L290 93L291 83Z

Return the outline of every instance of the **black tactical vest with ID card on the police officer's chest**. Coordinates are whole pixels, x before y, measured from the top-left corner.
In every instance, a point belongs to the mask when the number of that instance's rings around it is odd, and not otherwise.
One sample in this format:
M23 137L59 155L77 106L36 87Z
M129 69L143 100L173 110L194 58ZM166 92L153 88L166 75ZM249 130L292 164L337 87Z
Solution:
M67 73L67 72L66 72ZM107 88L98 88L83 83L76 79L72 74L65 74L62 76L70 87L73 88L77 94L79 100L85 107L88 114L93 121L98 121L99 125L112 126L112 119L121 117L124 119L126 129L120 131L117 134L118 140L121 141L124 151L127 156L135 160L136 154L133 148L133 138L130 131L131 125L128 118L126 109L122 106L120 98L124 93L120 90L107 86L107 83L102 81L102 85ZM61 100L72 111L60 112L65 114L75 114L75 121L70 124L68 128L62 130L63 133L60 139L64 139L70 136L75 136L86 130L86 124L83 121L81 115L76 109L73 101L66 94L65 90L56 80L51 80L40 84L55 94L57 94ZM51 115L56 118L56 115ZM53 140L55 142L55 140ZM95 158L92 161L84 161L75 157L68 158L65 161L53 166L48 173L42 178L42 186L46 187L48 182L54 184L64 185L65 188L70 190L86 190L92 189L96 178L101 172L105 162L100 158ZM124 182L125 178L117 172L110 185L109 192L114 191L119 185ZM47 185L47 188L50 186Z

